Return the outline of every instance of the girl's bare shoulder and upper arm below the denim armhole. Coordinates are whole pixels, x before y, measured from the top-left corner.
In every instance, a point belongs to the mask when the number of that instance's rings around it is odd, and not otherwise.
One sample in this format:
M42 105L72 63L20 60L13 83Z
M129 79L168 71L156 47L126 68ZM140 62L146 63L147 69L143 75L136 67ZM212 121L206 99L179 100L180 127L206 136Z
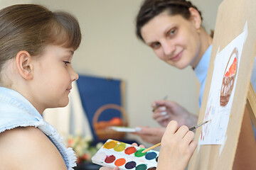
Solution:
M35 127L0 133L1 169L66 169L58 149Z

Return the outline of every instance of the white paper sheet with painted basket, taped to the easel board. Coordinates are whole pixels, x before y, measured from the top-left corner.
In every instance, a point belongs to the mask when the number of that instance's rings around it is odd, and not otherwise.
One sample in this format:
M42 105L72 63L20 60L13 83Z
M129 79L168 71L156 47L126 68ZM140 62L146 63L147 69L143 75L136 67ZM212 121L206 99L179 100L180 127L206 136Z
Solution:
M230 42L221 52L217 52L214 61L213 77L210 84L206 113L203 120L210 120L210 123L203 125L199 137L199 145L223 145L225 143L228 121L232 116L232 114L230 115L230 110L234 98L240 58L246 38L247 23L245 23L244 31L238 35L237 38ZM236 60L236 64L234 60ZM230 69L230 67L234 67L235 65L237 65L236 73L229 74L232 72L232 68ZM228 72L229 70L231 71ZM230 75L233 75L233 78L231 78ZM221 91L225 92L221 93ZM230 94L230 97L227 97L227 94ZM222 96L222 99L220 99L220 96ZM223 100L223 96L225 100ZM223 101L228 101L228 103Z

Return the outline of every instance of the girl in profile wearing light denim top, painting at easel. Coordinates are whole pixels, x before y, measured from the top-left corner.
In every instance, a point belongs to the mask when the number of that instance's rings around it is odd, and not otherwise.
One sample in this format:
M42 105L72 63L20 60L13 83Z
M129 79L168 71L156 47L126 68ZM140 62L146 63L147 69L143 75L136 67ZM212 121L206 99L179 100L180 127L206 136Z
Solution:
M0 169L71 170L75 166L73 150L63 145L41 114L46 108L67 106L71 84L78 79L71 60L80 41L80 26L69 13L35 4L1 9ZM162 148L159 170L184 169L196 149L193 132L186 126L178 129L172 121Z

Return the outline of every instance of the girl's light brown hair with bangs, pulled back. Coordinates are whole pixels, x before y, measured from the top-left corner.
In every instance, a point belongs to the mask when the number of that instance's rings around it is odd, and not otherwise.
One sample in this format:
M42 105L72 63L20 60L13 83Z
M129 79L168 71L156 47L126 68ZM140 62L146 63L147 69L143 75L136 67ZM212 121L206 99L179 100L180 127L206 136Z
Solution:
M80 42L80 26L70 13L52 12L36 4L18 4L0 11L0 72L21 50L36 56L46 45L77 50Z

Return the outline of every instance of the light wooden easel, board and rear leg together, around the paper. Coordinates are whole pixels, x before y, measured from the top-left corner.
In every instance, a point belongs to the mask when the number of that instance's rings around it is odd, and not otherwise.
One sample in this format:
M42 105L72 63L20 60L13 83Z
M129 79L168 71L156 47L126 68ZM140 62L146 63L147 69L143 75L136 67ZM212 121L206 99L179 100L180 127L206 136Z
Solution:
M241 53L238 81L225 133L225 143L198 145L188 164L188 170L249 169L249 164L250 169L256 169L256 145L251 126L251 120L256 126L256 94L250 84L252 61L256 55L256 11L253 6L256 6L255 0L223 0L218 7L213 50L198 122L203 122L205 117L216 55L243 33L245 23L247 23L247 39ZM200 139L201 130L201 128L196 130L196 140Z

